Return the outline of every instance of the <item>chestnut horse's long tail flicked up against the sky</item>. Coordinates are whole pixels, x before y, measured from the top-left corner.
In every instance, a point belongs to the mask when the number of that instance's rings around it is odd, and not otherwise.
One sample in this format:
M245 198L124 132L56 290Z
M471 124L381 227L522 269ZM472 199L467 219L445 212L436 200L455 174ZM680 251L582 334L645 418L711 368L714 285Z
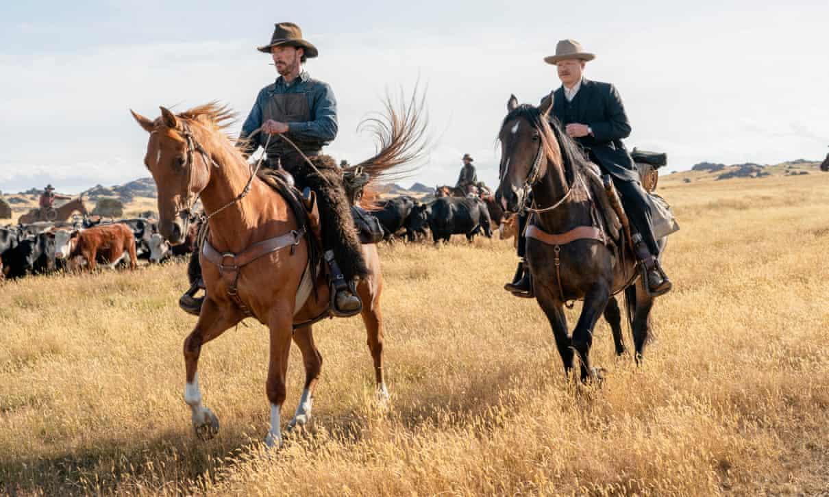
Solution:
M361 170L368 174L369 180L363 187L360 205L369 210L379 208L379 181L395 181L410 176L418 169L417 162L423 159L429 145L426 138L429 119L424 112L425 93L420 94L415 86L410 99L405 99L402 92L398 99L386 94L383 104L385 113L364 119L357 128L374 134L378 151L373 157L346 168L346 171Z

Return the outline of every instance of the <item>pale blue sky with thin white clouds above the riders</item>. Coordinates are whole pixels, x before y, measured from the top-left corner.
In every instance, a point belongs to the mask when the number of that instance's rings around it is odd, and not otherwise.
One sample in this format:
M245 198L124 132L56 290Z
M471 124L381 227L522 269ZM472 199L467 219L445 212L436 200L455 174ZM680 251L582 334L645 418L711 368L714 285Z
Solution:
M542 58L570 37L598 56L587 77L622 94L628 147L696 162L822 158L829 149L829 2L32 2L0 7L0 190L63 191L146 176L155 117L221 99L240 113L274 80L255 46L293 21L320 51L340 134L327 152L359 161L356 133L386 88L428 84L429 162L411 181L453 183L460 157L497 176L509 94L537 103L559 86ZM306 2L311 5L310 2Z

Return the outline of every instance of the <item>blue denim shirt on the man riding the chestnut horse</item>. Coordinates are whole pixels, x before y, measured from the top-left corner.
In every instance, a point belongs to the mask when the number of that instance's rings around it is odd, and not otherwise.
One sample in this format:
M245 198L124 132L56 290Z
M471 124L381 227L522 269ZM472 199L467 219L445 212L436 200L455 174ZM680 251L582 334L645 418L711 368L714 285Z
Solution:
M273 84L259 90L254 108L250 109L248 118L242 124L240 138L250 136L250 133L262 126L263 110L274 94L302 93L308 97L308 109L311 111L312 120L305 123L288 123L288 137L323 142L323 146L332 142L337 138L337 99L334 98L331 86L314 80L304 70L291 84L285 83L284 78L279 76ZM257 148L264 147L266 139L267 135L257 133L245 152L250 155Z

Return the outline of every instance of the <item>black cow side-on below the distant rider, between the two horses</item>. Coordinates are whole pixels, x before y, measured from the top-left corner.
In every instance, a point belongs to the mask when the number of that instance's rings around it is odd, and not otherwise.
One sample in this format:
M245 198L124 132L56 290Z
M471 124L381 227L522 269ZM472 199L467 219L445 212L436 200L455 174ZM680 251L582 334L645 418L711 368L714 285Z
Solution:
M481 229L487 238L492 238L492 220L489 219L487 205L477 197L441 197L419 212L427 214L435 244L440 240L448 242L453 234L465 234L467 240L472 242ZM419 221L413 224L422 222L422 215L416 217Z

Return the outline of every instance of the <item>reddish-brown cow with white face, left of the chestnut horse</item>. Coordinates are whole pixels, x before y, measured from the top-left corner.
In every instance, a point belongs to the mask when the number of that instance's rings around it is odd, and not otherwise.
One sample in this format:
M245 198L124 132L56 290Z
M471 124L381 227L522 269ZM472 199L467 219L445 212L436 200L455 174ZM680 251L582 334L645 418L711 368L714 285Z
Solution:
M114 268L125 258L129 258L130 269L135 269L138 263L133 230L126 224L105 224L73 231L60 229L55 232L55 246L56 258L66 258L70 262L83 258L90 270L94 270L99 262Z

